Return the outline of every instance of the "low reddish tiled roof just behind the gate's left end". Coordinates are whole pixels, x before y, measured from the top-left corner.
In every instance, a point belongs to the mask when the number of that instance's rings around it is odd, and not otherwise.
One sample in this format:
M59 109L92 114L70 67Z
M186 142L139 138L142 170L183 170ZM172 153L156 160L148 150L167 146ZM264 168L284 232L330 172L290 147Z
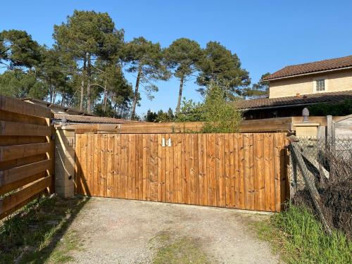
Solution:
M89 115L69 115L65 113L55 113L54 119L56 121L76 123L76 124L127 124L131 122L138 122L132 120L125 120L120 118L105 118L101 116Z

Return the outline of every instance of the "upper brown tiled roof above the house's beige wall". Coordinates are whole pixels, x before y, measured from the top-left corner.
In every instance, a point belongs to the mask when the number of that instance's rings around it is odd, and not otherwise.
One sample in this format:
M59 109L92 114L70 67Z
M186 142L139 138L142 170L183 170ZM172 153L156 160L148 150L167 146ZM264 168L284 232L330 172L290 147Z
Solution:
M341 58L331 58L324 61L315 61L312 63L289 65L275 73L272 73L272 75L263 78L262 81L277 80L310 73L319 73L327 70L341 70L344 68L352 68L352 55Z

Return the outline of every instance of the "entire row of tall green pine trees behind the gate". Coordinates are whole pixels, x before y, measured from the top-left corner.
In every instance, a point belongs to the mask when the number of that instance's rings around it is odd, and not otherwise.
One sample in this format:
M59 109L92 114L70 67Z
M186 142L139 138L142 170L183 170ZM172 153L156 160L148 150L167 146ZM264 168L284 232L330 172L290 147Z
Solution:
M0 74L0 93L135 119L141 93L153 99L153 92L158 92L156 82L171 75L180 79L177 114L184 83L193 78L201 85L201 94L214 84L222 87L227 99L249 85L248 73L241 68L237 55L218 42L208 42L206 49L201 49L197 42L180 38L162 49L158 42L144 37L125 42L124 34L108 13L77 10L54 25L55 43L51 47L39 45L25 31L4 30L0 32L0 68L6 71ZM134 89L125 78L126 72L135 74ZM198 106L189 107L183 106L178 120L201 119ZM190 110L194 114L189 114ZM157 115L157 122L175 118L173 113Z

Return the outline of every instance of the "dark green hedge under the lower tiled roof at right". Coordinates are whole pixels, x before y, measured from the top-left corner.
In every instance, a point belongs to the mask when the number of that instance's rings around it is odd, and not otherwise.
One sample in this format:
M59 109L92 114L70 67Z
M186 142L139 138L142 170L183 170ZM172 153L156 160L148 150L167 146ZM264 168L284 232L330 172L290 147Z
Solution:
M312 106L308 106L310 115L351 115L352 113L352 100L346 99L341 103L317 103Z

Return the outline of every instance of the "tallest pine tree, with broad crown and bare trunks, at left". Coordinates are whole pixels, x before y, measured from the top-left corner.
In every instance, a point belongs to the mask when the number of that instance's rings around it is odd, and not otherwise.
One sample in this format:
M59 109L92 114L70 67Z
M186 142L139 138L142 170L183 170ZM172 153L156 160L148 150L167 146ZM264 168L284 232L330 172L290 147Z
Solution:
M69 67L70 74L79 75L81 81L78 87L81 92L80 110L86 108L87 112L91 113L94 107L92 102L99 100L102 93L99 87L101 83L108 82L106 75L101 73L106 65L117 64L118 59L122 58L123 35L123 30L115 29L115 23L108 13L76 10L73 15L68 16L66 23L54 25L56 49L74 61L75 67ZM119 78L119 81L125 81L123 75ZM87 88L84 89L84 86ZM123 89L125 87L126 85ZM104 88L103 111L106 109L106 90L108 89L109 95L113 97L113 88ZM87 94L84 94L85 90Z

